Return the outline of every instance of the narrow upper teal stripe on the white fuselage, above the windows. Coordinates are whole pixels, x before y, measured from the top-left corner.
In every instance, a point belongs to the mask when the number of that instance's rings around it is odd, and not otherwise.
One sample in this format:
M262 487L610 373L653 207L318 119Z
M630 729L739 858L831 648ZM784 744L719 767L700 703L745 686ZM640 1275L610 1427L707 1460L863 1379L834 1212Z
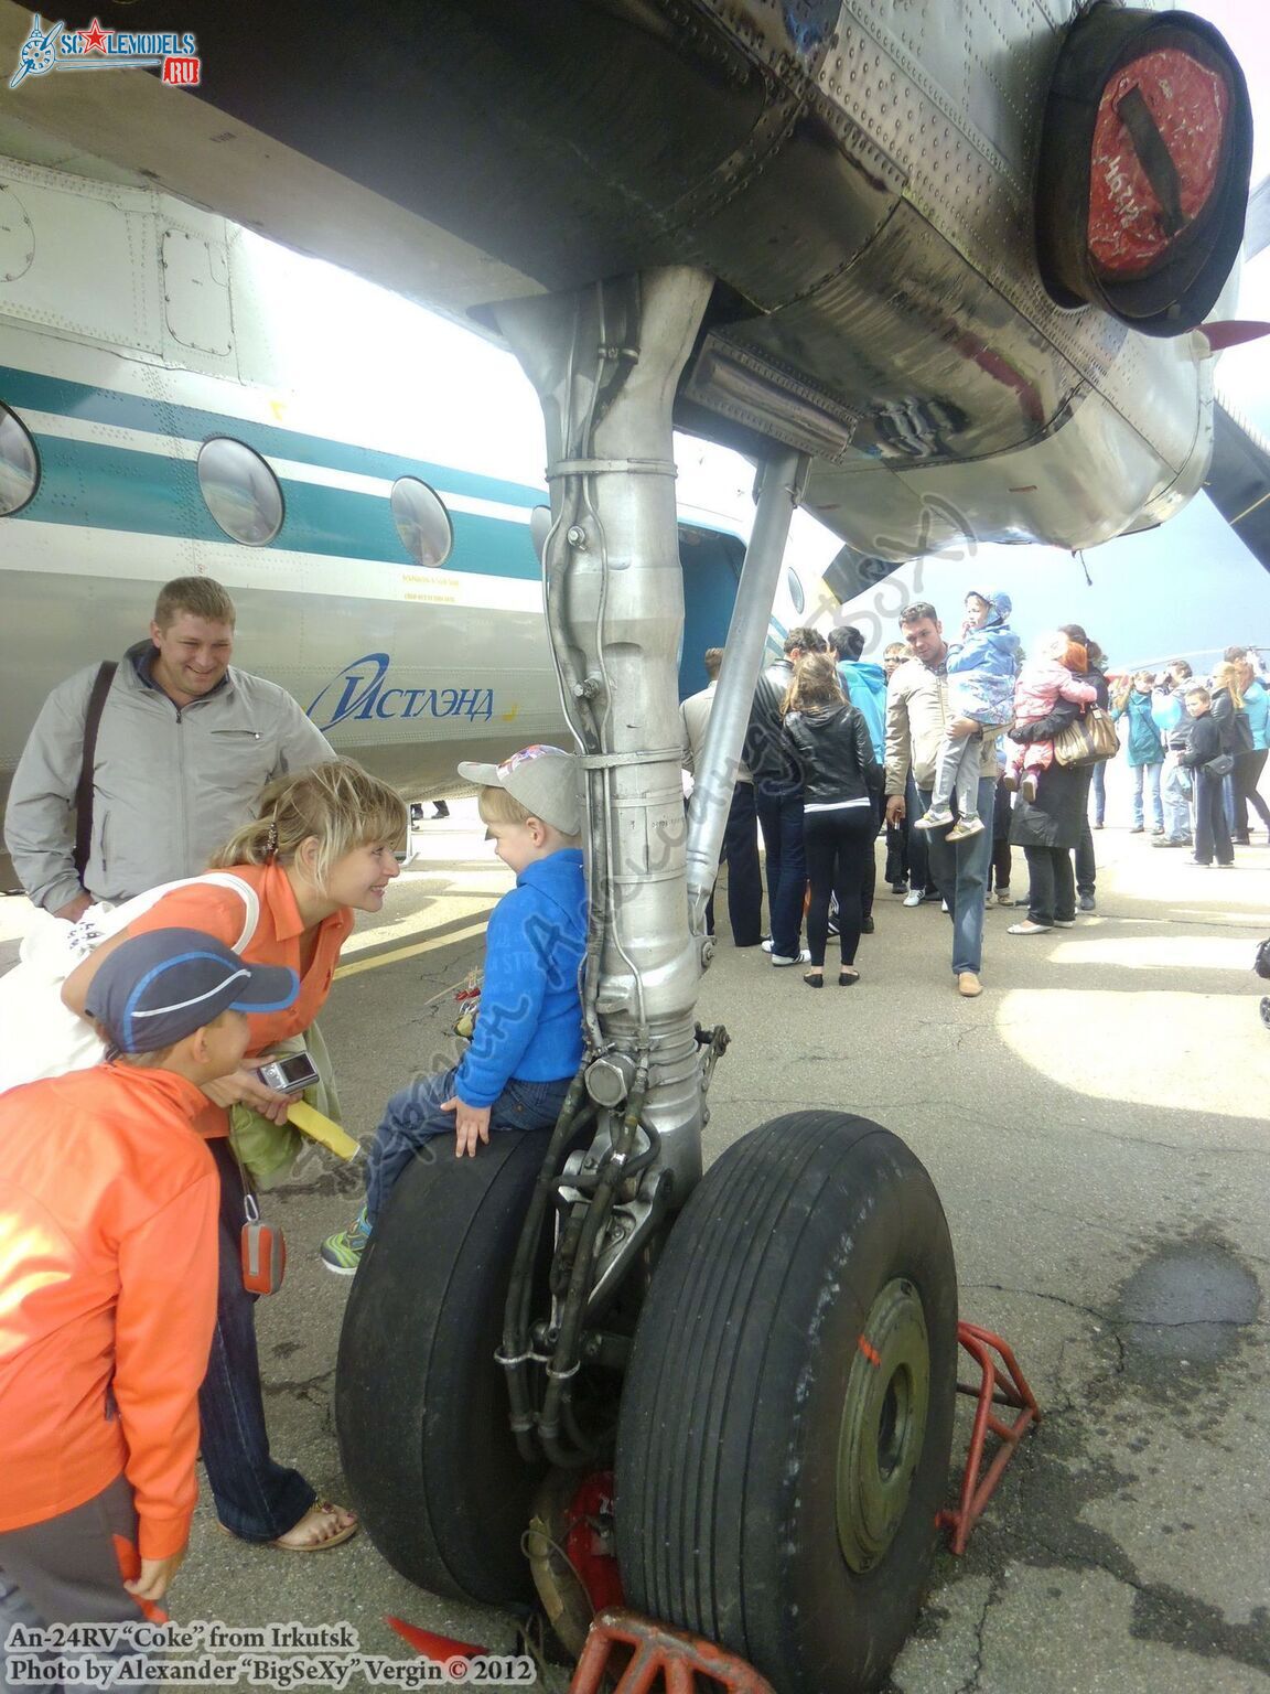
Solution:
M169 374L179 379L176 373ZM329 440L325 435L303 435L298 430L281 429L276 424L254 424L227 412L202 412L196 407L169 405L166 400L142 400L139 395L122 395L113 388L91 388L86 383L69 383L61 376L41 376L37 371L20 371L7 364L0 364L0 400L15 412L29 407L115 429L174 435L181 440L202 442L210 435L232 435L266 457L295 459L298 464L320 464L330 471L354 471L357 476L381 476L388 481L398 476L422 476L425 483L439 483L456 495L501 500L505 505L527 510L545 503L540 490L525 488L523 483L505 483L496 476L456 471L427 459L406 459L374 447L357 447L347 440ZM163 451L159 444L156 451Z

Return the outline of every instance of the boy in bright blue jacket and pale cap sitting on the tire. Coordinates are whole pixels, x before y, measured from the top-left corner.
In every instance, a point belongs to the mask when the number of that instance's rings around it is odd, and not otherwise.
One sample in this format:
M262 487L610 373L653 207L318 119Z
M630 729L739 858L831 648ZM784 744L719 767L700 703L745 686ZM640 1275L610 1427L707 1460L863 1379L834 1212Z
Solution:
M559 747L525 747L498 766L461 764L459 776L479 784L486 840L516 886L489 915L471 1047L459 1066L415 1077L384 1108L366 1162L366 1204L322 1247L339 1276L357 1269L393 1182L433 1137L452 1132L462 1159L491 1130L550 1128L583 1062L577 761Z

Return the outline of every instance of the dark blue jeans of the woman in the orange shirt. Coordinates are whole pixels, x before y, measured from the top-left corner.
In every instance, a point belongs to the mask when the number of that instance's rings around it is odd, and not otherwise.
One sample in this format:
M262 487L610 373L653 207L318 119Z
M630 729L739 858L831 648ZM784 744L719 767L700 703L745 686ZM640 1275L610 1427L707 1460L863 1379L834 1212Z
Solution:
M300 1523L317 1492L298 1470L269 1455L256 1294L242 1286L242 1172L225 1137L207 1145L220 1172L220 1287L212 1355L198 1391L203 1465L225 1528L244 1542L273 1542Z

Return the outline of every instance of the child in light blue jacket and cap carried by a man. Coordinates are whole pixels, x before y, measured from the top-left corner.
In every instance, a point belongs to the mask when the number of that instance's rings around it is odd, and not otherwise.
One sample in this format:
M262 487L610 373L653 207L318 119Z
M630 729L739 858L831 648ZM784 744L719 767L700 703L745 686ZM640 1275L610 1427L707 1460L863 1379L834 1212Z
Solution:
M916 818L914 830L948 830L948 840L979 835L979 757L984 734L997 735L1014 722L1014 674L1019 667L1019 639L1006 622L1013 610L1009 595L974 590L965 596L962 640L948 649L948 718L935 756L935 788L930 810ZM962 735L952 725L969 723ZM958 818L953 822L952 796Z

